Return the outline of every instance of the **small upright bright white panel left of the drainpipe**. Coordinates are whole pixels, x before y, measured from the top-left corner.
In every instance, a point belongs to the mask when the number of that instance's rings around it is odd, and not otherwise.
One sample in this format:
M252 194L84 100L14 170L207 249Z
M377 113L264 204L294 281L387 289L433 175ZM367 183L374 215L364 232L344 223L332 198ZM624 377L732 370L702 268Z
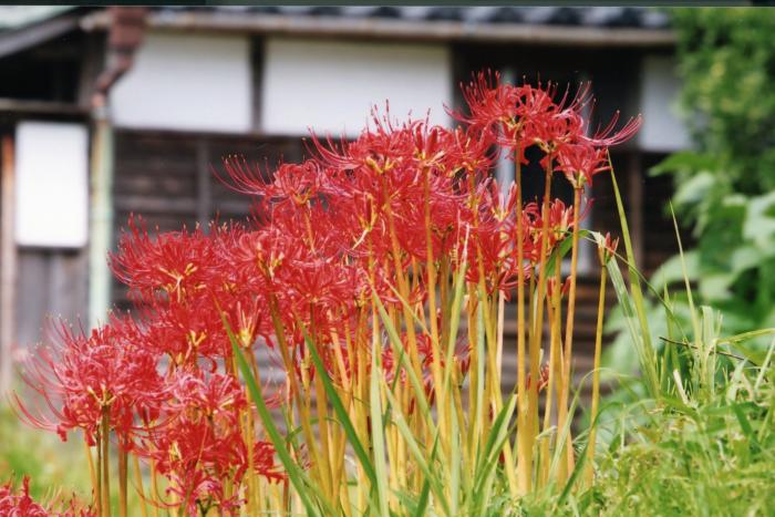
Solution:
M89 236L89 132L21 122L16 133L16 240L80 248Z

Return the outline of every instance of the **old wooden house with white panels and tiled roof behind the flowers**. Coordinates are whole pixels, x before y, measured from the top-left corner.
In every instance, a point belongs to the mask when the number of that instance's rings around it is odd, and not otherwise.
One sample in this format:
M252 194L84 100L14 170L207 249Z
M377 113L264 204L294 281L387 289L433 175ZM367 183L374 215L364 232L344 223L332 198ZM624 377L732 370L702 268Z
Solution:
M388 99L395 116L431 108L450 123L444 105L483 69L591 81L599 120L643 114L613 161L651 271L675 245L670 184L647 169L689 145L673 49L669 15L644 8L0 8L0 379L46 316L86 327L126 307L105 254L130 214L162 230L242 217L249 200L211 174L221 156L299 159L308 127L354 136ZM587 224L616 231L606 178L593 197ZM577 321L587 352L592 252Z

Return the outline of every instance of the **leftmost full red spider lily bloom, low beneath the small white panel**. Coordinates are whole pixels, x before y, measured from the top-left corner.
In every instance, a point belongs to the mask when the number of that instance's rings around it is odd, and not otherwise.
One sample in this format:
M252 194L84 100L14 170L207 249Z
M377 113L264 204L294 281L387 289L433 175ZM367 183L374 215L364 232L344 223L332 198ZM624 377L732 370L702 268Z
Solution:
M140 331L127 318L112 318L90 335L60 327L58 350L41 348L28 359L22 376L38 392L52 417L35 415L19 396L28 423L56 431L62 440L81 428L93 443L103 417L121 443L130 446L135 415L158 414L164 399L156 355L138 345ZM53 418L53 420L52 420Z

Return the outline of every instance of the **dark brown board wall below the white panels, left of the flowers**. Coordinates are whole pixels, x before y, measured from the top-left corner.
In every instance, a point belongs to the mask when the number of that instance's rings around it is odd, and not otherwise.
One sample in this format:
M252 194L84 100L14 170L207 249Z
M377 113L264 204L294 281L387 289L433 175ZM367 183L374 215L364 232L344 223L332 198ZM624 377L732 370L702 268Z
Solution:
M221 159L230 154L275 166L301 158L300 138L250 138L244 135L188 134L174 132L116 131L115 244L131 214L141 215L148 229L179 230L197 223L241 219L249 214L250 199L235 193L214 174L223 173ZM128 308L126 289L114 282L112 299Z

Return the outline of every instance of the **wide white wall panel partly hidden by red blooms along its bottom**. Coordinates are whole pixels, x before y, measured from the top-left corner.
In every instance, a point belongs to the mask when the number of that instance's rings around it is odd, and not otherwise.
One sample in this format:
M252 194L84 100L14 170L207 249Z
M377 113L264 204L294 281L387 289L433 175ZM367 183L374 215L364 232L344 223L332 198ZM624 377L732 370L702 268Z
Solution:
M448 46L269 38L266 42L261 128L267 133L356 136L371 107L403 121L411 111L448 124L452 104Z

